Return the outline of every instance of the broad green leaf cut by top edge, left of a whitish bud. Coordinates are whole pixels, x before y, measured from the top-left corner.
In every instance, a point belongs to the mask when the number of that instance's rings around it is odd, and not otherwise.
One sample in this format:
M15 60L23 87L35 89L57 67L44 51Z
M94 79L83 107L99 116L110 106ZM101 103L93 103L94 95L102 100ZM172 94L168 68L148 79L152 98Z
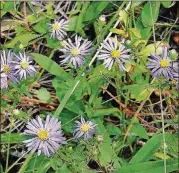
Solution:
M83 22L91 21L99 17L109 2L92 2L84 14Z

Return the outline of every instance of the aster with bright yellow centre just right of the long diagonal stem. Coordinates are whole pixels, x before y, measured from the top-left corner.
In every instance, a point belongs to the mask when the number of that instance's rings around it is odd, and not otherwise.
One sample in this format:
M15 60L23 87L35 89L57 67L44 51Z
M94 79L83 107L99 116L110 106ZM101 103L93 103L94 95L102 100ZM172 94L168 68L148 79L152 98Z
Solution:
M98 55L99 60L104 60L103 65L111 70L113 64L116 62L121 71L126 71L124 63L129 63L131 49L127 49L124 46L124 39L120 44L118 44L117 36L114 39L109 38L106 41L103 41L101 44L103 49L99 50L100 54Z

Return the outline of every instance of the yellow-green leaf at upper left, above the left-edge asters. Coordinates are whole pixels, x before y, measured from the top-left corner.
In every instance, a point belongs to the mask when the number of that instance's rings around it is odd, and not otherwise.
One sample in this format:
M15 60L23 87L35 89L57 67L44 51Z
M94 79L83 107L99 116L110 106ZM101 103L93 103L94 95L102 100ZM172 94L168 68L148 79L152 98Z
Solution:
M16 36L13 40L11 40L9 43L5 44L5 47L7 48L14 48L15 44L20 42L23 44L24 47L26 47L29 44L29 41L39 37L37 34L21 34Z

